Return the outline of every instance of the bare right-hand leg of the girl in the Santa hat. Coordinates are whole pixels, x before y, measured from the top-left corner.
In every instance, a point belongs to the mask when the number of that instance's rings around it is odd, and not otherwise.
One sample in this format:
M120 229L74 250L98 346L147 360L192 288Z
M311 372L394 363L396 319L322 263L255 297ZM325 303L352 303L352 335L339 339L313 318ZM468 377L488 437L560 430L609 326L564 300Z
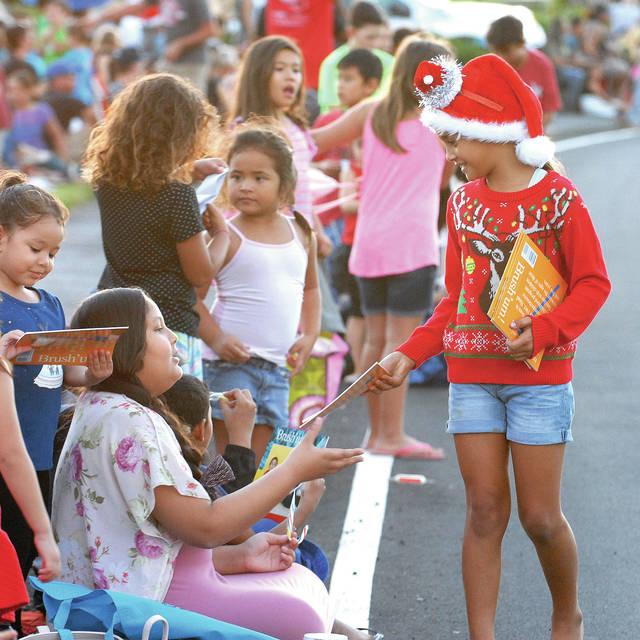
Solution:
M560 504L564 444L512 443L520 522L535 545L551 599L552 640L582 640L578 550Z

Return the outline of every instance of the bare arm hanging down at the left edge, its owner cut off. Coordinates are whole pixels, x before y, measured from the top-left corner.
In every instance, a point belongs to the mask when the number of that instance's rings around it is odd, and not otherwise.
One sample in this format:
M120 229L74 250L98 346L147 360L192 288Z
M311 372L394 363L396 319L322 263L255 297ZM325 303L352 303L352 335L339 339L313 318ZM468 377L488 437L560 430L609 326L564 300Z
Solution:
M38 577L46 582L60 573L60 552L53 539L35 469L22 439L11 376L1 364L0 406L0 473L33 531L33 541L42 558Z

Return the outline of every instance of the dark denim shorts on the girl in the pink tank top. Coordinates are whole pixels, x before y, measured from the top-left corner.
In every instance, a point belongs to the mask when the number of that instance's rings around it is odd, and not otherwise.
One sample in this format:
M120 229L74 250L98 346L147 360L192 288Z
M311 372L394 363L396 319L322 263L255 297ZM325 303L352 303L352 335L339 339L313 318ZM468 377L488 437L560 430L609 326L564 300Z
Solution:
M435 276L436 268L431 265L391 276L358 277L363 314L424 317L431 309Z

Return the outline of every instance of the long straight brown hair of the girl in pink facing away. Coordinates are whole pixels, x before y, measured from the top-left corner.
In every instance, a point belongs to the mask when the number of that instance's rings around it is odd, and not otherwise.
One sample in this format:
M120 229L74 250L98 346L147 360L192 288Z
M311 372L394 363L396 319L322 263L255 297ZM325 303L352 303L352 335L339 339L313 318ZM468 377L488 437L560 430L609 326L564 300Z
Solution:
M396 129L402 118L418 106L413 84L418 65L423 60L449 55L451 51L445 44L431 36L415 34L402 41L393 66L389 93L378 103L371 117L373 133L391 151L407 152L398 142Z

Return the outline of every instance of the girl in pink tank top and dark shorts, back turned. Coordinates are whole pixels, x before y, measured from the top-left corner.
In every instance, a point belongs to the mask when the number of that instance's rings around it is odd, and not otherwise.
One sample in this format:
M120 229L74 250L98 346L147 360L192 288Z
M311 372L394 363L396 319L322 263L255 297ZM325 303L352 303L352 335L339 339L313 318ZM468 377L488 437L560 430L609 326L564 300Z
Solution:
M390 353L394 336L409 337L431 306L439 262L440 187L448 182L451 169L436 134L420 124L413 77L423 60L449 55L444 46L423 36L406 38L385 98L360 103L312 130L320 151L363 137L358 224L349 260L365 319L363 367ZM368 395L365 447L397 457L442 458L441 449L405 432L406 391L405 384L383 396Z

